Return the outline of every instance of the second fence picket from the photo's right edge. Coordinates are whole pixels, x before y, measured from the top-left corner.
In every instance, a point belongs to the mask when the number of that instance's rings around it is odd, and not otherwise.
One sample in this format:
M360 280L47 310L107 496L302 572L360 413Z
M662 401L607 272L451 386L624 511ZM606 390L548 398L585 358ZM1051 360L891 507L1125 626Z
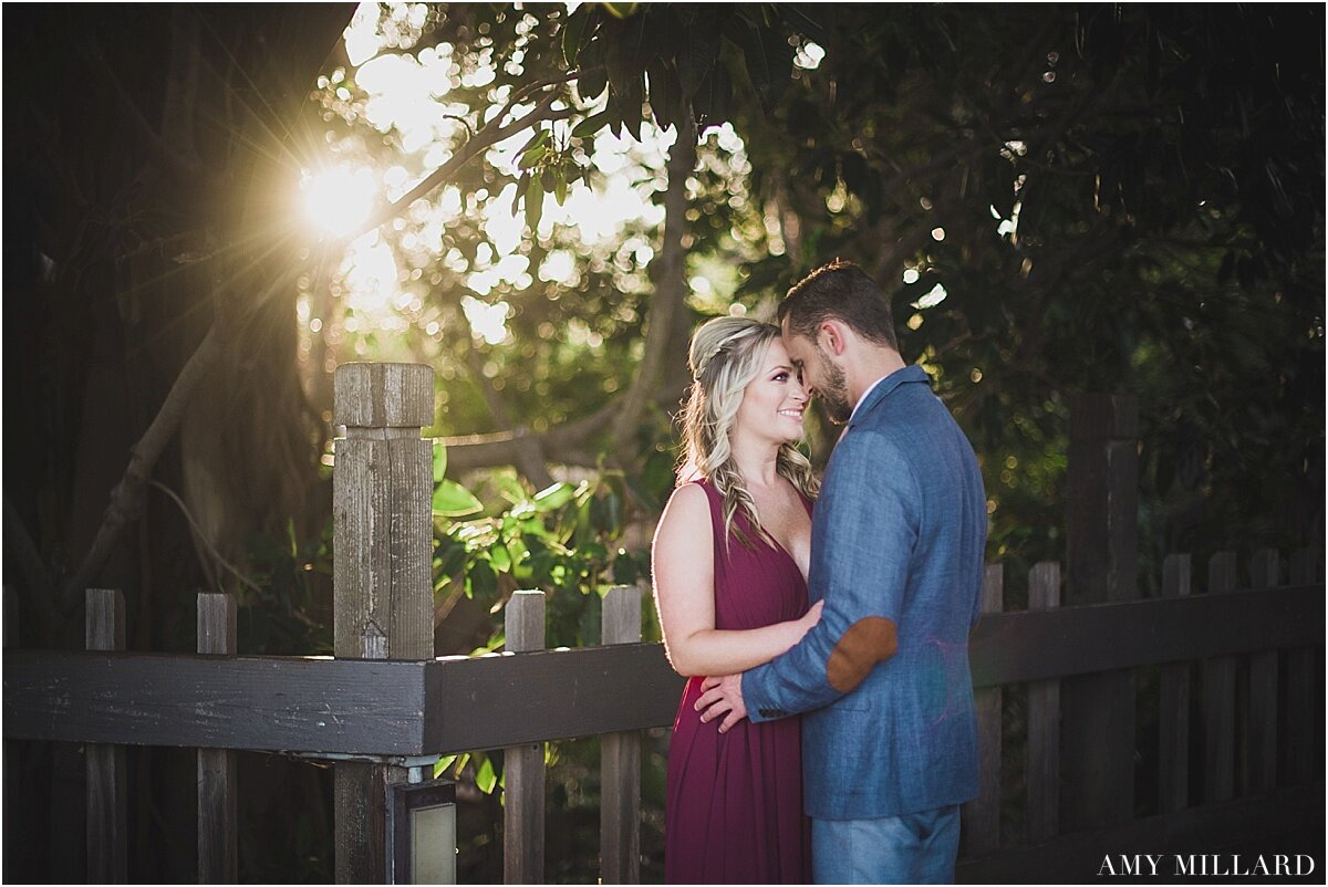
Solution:
M1282 559L1272 548L1256 551L1250 564L1250 587L1276 588ZM1278 786L1278 651L1250 653L1246 702L1240 706L1240 793L1263 794Z

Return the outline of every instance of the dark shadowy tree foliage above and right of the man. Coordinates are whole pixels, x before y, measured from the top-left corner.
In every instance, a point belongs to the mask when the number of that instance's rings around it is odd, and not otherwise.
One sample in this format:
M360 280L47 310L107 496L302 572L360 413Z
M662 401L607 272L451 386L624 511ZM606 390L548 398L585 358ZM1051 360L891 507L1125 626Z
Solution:
M1073 392L1139 397L1141 579L1323 535L1321 15L855 7L737 126L784 247L851 258L984 462L989 556L1057 532ZM750 293L750 295L749 295ZM823 447L817 447L823 451ZM1178 470L1183 466L1183 470Z

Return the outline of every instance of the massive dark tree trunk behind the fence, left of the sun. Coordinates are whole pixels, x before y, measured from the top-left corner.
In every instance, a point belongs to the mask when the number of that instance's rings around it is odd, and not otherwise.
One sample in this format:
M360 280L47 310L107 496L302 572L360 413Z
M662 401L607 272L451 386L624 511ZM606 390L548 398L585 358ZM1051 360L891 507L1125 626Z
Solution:
M78 575L74 584L125 592L131 648L191 649L194 592L227 575L214 551L243 568L250 536L284 534L288 521L301 538L320 528L325 510L309 507L320 429L296 369L292 198L316 145L301 106L352 13L84 5L5 16L5 68L23 81L5 105L5 550L31 547L45 567L5 576L24 599L23 645L81 645L81 590L52 605ZM178 392L178 418L162 416L210 331L223 347ZM146 458L154 422L162 433ZM113 498L122 483L137 498ZM151 483L178 494L189 519ZM88 559L110 524L102 555ZM29 617L41 600L45 624ZM193 846L194 802L181 789L191 786L161 778L167 757L137 756L151 797L135 802L146 839L131 851L131 880L195 876L187 852L165 870L153 862L161 846ZM49 843L40 818L5 826L11 846ZM7 876L49 880L46 856L28 854L35 868L7 866Z

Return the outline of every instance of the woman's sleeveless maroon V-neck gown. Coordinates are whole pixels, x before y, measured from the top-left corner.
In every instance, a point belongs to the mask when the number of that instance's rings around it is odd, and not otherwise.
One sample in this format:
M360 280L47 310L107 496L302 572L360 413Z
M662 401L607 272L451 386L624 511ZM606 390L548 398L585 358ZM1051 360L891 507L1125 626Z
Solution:
M807 611L793 556L758 539L724 544L724 501L708 481L714 528L714 627L761 628ZM810 514L811 503L806 502ZM746 518L734 515L750 539ZM671 884L811 883L810 822L802 813L799 717L701 724L703 677L692 677L673 722L664 813L664 880Z

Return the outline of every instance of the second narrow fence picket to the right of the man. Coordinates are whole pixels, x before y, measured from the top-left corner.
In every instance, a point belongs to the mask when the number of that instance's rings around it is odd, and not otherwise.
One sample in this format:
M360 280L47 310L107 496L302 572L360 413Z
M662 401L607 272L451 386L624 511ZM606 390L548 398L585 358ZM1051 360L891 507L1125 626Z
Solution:
M1061 600L1061 566L1040 563L1028 571L1028 608L1056 609ZM1028 684L1028 841L1060 834L1061 681Z

